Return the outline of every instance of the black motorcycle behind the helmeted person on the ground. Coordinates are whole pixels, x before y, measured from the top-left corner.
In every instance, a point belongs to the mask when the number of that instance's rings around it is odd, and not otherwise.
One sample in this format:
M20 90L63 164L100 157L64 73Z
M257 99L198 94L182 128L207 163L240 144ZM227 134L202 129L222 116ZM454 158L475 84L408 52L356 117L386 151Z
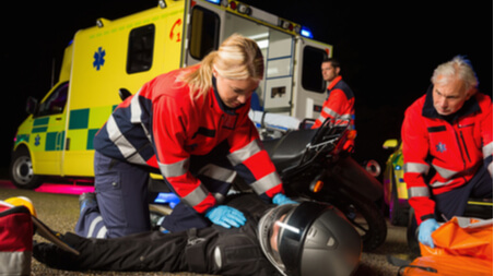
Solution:
M286 195L334 205L361 233L364 250L372 251L387 236L386 219L376 204L383 196L383 185L345 149L345 143L354 136L348 124L334 125L328 119L319 129L302 127L262 144Z

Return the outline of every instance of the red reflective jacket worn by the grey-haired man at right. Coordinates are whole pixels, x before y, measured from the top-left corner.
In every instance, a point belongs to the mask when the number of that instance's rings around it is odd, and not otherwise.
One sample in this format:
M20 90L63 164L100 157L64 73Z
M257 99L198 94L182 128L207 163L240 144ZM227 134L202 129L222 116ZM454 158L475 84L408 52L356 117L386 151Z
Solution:
M477 93L460 110L440 116L432 86L405 111L401 130L404 181L417 224L434 218L433 194L466 184L480 166L492 176L492 100Z

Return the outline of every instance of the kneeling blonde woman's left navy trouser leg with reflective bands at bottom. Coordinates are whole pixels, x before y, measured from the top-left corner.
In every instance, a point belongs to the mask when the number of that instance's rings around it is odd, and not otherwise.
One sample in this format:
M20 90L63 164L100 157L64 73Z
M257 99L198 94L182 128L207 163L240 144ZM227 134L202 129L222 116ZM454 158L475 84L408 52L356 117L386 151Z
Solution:
M94 188L97 204L89 204L75 225L87 238L117 238L151 229L149 169L94 154Z

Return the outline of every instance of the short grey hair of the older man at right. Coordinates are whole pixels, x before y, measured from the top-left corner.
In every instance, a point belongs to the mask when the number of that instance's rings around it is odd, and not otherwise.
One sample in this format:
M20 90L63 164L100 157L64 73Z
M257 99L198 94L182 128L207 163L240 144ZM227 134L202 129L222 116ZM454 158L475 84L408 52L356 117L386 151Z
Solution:
M443 76L440 80L438 80L439 75ZM477 79L470 60L462 56L456 56L450 61L438 65L434 70L431 82L433 84L446 84L454 79L463 81L467 91L477 88L479 85L479 80Z

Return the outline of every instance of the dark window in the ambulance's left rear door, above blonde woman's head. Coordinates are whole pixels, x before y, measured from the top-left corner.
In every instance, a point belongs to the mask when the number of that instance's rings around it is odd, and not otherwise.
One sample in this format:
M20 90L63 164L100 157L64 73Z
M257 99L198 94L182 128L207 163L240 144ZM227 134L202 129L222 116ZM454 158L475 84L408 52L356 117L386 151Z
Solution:
M217 49L220 17L216 13L197 5L192 10L190 26L190 56L202 60L210 51Z

